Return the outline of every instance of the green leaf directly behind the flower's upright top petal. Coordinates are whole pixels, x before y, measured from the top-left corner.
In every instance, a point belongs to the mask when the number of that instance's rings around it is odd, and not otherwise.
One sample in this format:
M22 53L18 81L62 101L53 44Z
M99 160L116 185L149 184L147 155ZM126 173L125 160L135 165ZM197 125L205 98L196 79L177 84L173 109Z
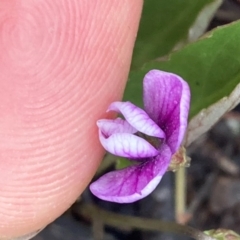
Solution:
M182 76L191 88L190 117L228 96L240 82L240 22L220 27L172 53L166 61L146 63L131 71L124 99L141 106L142 79L151 69ZM138 94L134 94L137 92Z

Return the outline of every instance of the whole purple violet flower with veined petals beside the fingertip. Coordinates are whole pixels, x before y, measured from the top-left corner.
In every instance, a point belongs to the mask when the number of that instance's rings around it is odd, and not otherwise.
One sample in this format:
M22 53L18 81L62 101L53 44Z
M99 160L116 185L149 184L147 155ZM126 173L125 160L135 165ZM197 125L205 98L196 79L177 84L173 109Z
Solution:
M143 100L145 111L131 102L113 102L108 111L125 119L97 121L103 147L139 163L109 172L92 183L90 190L100 199L130 203L146 197L180 147L187 128L188 84L175 74L151 70L144 77Z

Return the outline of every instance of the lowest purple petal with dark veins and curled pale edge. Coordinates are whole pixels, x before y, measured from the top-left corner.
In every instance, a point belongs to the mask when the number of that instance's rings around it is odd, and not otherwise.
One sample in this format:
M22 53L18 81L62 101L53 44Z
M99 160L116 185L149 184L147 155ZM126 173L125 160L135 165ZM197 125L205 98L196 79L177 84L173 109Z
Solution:
M109 172L90 185L91 192L100 199L131 203L149 195L166 172L171 150L163 145L155 158L122 170Z

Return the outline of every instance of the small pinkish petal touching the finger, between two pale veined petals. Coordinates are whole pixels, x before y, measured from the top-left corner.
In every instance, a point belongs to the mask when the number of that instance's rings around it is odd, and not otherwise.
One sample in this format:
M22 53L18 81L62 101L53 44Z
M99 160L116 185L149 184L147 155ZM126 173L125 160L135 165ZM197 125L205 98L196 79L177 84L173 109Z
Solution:
M97 126L101 132L109 137L114 133L136 133L137 130L132 127L126 120L121 118L116 119L100 119L97 121Z

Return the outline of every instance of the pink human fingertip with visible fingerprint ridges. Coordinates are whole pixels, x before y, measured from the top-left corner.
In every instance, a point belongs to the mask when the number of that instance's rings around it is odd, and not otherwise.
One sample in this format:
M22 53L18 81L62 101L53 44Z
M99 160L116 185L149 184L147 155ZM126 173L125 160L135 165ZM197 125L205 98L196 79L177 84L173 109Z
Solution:
M141 0L0 1L0 239L46 226L90 182Z

